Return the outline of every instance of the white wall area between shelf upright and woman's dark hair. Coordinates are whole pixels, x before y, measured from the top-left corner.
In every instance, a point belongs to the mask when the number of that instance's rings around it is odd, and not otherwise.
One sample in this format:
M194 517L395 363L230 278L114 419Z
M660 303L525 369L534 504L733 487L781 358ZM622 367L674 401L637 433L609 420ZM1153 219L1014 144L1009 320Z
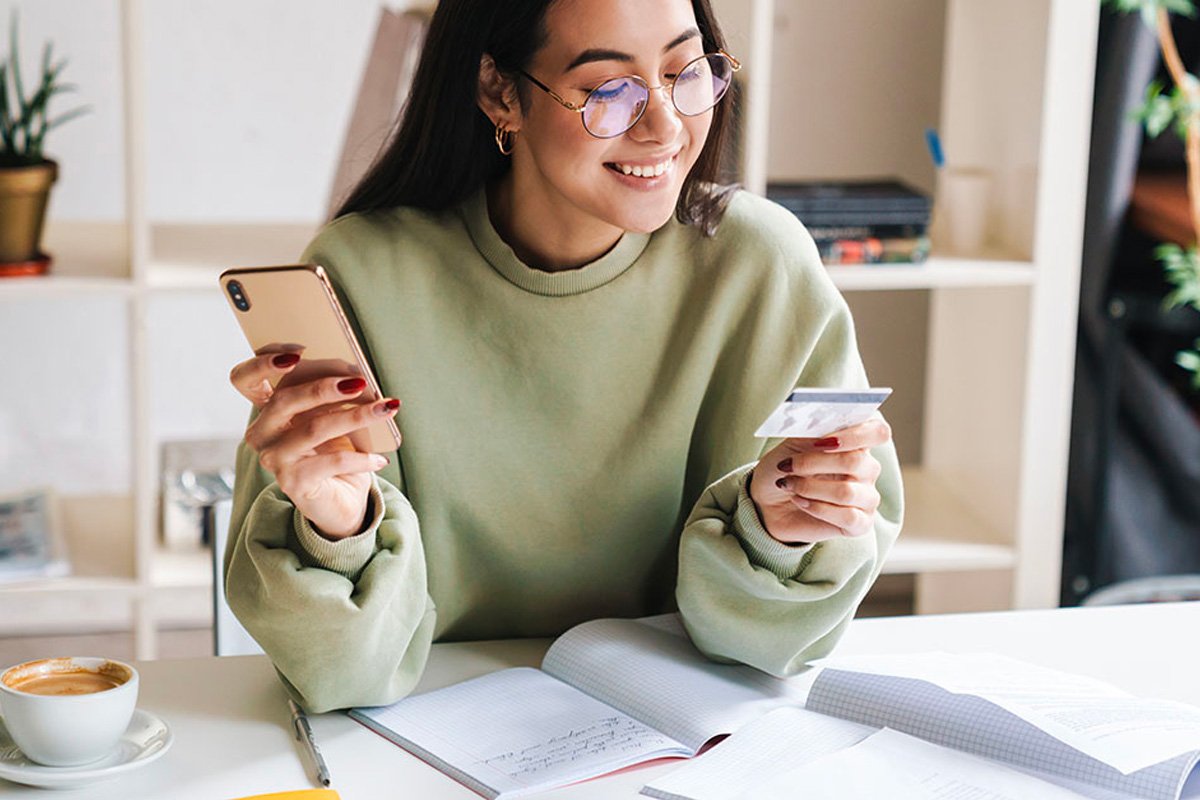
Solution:
M319 219L378 5L144 0L150 218Z

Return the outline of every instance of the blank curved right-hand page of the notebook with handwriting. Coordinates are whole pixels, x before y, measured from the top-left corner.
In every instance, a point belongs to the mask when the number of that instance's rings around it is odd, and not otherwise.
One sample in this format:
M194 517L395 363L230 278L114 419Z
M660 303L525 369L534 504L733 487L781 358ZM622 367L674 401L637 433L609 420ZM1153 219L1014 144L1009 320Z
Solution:
M692 750L804 698L796 682L709 661L661 618L577 625L554 642L541 668Z

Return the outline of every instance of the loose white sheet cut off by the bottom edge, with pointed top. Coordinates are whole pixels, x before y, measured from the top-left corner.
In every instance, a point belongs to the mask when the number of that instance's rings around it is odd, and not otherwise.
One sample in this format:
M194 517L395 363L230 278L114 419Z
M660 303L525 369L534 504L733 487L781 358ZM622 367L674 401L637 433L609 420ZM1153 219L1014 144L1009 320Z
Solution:
M798 790L799 789L799 790ZM839 753L775 770L737 800L1082 800L1085 795L895 730Z

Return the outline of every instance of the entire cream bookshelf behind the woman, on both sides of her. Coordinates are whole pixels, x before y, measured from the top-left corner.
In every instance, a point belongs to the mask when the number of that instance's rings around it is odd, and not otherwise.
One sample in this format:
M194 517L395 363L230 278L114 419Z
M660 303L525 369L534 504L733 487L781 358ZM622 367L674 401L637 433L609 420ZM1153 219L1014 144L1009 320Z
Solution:
M128 369L115 379L126 384L132 461L131 492L64 498L73 560L86 567L0 587L0 636L80 630L82 620L132 626L143 658L155 655L161 625L206 618L211 589L206 553L157 543L151 305L206 297L230 264L288 261L317 228L150 217L144 145L157 112L145 83L161 50L143 46L148 5L119 2L125 218L52 224L54 273L0 282L0 314L26 300L121 305ZM979 257L948 257L935 237L923 265L830 275L856 312L872 378L896 389L886 410L908 519L884 572L916 576L922 612L1057 604L1098 4L715 6L745 64L749 188L895 174L932 190L922 139L931 125L952 163L996 176Z

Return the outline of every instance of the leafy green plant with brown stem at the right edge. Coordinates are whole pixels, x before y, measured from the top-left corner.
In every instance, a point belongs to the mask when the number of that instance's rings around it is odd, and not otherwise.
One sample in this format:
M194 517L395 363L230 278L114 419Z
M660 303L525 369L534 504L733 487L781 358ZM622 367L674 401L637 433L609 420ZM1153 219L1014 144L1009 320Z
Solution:
M1178 46L1171 31L1171 14L1195 17L1193 0L1102 0L1116 11L1140 13L1142 20L1158 37L1163 61L1171 77L1168 88L1159 80L1146 88L1146 100L1133 116L1146 127L1146 133L1158 137L1168 128L1184 142L1188 169L1188 201L1195 239L1190 246L1163 243L1154 255L1163 265L1166 281L1174 289L1164 305L1169 308L1190 306L1200 311L1200 79L1190 74L1180 58ZM1200 391L1200 339L1192 349L1176 355L1176 363L1192 373L1192 386Z

